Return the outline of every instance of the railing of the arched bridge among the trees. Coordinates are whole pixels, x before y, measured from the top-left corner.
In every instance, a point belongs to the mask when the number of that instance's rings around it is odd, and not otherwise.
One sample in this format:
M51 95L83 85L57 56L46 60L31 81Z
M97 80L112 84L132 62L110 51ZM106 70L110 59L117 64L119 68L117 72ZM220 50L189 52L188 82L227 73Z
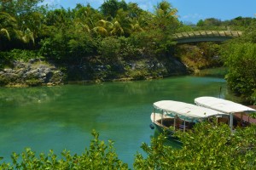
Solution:
M241 31L188 31L174 34L175 39L189 37L240 37Z

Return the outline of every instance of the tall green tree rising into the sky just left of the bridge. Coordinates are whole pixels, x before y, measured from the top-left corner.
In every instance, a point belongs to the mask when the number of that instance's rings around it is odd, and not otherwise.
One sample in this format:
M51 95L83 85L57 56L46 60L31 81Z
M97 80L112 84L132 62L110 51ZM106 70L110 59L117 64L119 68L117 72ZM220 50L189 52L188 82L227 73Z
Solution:
M138 35L138 39L143 40L141 43L147 46L149 55L168 53L175 44L172 35L180 24L176 14L177 9L172 8L171 3L167 1L159 3L154 14L143 14L147 25L145 33Z

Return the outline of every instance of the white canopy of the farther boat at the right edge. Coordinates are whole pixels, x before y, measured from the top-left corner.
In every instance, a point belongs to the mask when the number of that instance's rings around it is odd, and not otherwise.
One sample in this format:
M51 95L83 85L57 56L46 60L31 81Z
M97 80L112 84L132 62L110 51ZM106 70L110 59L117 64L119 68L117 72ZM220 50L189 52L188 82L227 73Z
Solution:
M227 114L237 113L237 112L256 112L253 108L241 105L230 100L219 99L215 97L199 97L195 98L195 104L203 107L210 108L212 110L221 111Z

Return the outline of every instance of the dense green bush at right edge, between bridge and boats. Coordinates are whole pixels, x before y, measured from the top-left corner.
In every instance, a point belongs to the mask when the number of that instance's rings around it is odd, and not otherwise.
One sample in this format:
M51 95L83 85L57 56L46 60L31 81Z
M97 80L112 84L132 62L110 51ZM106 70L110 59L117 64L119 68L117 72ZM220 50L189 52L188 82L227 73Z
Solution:
M229 68L226 79L230 89L249 100L256 89L256 44L229 43L222 57Z

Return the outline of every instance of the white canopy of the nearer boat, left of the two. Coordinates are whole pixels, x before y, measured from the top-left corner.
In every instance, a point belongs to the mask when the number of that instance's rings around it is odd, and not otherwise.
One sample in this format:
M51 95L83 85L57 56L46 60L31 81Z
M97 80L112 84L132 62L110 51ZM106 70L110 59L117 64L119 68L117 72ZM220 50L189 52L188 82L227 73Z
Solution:
M166 114L171 114L172 116L178 115L188 117L189 119L203 119L209 116L226 115L220 111L173 100L155 102L154 108L166 112Z

